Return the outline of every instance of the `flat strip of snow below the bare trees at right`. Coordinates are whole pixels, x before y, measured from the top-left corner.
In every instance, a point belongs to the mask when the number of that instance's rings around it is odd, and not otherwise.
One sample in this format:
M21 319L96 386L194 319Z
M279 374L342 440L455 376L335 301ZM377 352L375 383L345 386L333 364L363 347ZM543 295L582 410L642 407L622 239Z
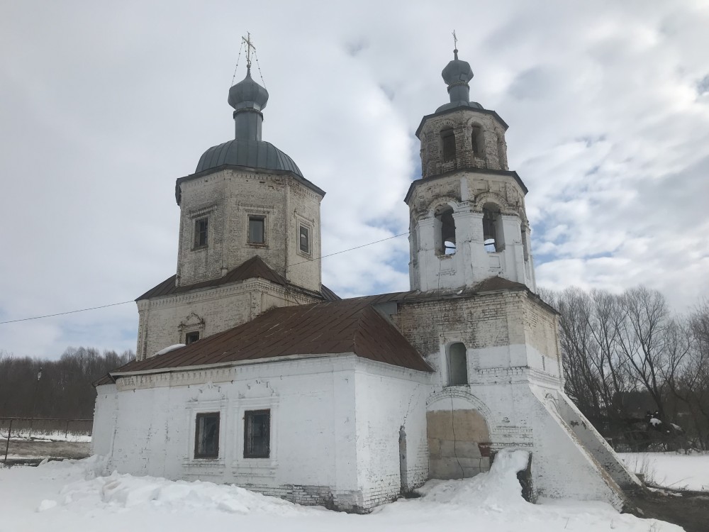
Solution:
M648 484L709 492L709 454L618 453Z

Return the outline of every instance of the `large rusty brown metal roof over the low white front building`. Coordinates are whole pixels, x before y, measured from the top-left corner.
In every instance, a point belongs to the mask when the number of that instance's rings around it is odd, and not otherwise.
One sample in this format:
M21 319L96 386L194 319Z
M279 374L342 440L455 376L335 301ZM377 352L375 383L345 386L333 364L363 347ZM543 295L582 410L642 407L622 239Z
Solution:
M420 353L366 299L272 309L252 321L184 348L129 362L112 371L111 375L118 377L125 372L337 353L354 353L386 364L432 371ZM101 379L97 384L104 383L105 380Z

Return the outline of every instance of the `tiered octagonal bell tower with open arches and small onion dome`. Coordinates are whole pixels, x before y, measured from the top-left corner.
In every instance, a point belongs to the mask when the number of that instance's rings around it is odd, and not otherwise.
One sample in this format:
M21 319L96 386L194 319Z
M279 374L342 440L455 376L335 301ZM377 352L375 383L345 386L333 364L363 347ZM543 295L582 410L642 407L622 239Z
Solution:
M411 289L471 287L503 277L536 291L527 187L507 164L507 124L470 101L473 72L454 58L443 69L450 102L424 116L421 178L406 194Z

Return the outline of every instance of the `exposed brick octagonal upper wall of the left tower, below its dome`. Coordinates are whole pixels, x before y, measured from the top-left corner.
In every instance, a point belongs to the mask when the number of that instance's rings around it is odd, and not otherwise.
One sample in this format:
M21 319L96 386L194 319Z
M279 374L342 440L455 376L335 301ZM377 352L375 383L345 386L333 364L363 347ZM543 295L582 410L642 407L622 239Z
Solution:
M294 284L318 291L322 196L288 174L222 170L180 184L177 283L218 279L254 255ZM194 223L207 216L208 245L194 247ZM265 216L265 243L248 240L249 216ZM298 247L298 226L311 233L311 253ZM298 263L296 265L296 263Z

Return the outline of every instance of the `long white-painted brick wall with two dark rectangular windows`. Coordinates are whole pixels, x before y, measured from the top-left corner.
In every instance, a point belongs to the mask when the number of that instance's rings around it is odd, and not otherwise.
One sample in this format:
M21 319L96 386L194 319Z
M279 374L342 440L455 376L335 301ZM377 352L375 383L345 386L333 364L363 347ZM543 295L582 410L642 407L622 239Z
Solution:
M355 359L119 379L97 389L94 452L109 455L109 468L133 475L234 482L298 502L361 508ZM243 413L264 408L272 415L271 456L245 459ZM216 460L193 458L200 411L220 412Z

